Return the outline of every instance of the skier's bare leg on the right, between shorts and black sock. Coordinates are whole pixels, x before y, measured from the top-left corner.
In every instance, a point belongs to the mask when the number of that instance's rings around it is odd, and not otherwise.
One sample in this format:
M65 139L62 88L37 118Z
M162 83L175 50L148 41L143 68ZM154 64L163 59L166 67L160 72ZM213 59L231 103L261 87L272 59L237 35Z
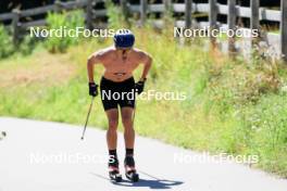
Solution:
M124 138L125 138L125 147L126 147L126 154L133 155L134 152L134 144L135 144L135 130L134 130L134 124L133 124L133 114L134 109L133 107L122 107L121 109L122 114L122 123L124 126Z

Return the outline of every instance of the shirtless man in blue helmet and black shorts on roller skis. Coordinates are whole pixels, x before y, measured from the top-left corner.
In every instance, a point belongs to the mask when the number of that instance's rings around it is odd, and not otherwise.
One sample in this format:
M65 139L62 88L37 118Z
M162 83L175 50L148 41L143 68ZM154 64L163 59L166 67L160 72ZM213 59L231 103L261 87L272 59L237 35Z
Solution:
M87 62L89 94L92 97L98 96L98 85L93 81L93 65L102 64L104 67L100 81L100 94L109 120L109 129L107 131L109 156L113 158L109 160L109 175L111 179L115 179L116 181L122 180L116 155L118 105L124 126L126 148L124 161L125 174L128 179L138 181L134 161L135 130L133 115L135 92L140 94L144 91L152 59L148 53L133 48L135 36L130 30L118 29L114 35L114 46L92 53ZM133 72L139 64L144 64L144 71L139 81L135 82ZM128 97L128 92L132 92L134 97ZM120 93L121 98L108 97L109 93L117 93L117 96Z

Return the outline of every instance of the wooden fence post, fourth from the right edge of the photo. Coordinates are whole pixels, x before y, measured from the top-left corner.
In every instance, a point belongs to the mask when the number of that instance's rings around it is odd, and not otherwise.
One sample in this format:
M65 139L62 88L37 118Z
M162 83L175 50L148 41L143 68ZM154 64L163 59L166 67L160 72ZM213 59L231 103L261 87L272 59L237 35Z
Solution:
M217 28L216 25L216 21L217 21L217 4L216 4L216 0L209 0L209 5L210 5L210 12L209 12L209 26L210 26L210 30L213 30L215 28ZM212 48L215 48L215 41L216 39L211 35L210 36L211 39L211 44Z

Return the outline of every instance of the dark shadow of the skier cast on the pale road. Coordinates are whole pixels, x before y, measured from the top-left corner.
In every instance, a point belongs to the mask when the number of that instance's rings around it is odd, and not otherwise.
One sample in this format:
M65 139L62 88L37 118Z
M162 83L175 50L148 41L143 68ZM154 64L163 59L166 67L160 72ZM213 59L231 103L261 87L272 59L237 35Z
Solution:
M101 176L101 175L98 175L95 173L91 173L91 174L99 177L99 178L109 180L115 186L121 186L121 187L147 187L150 189L172 189L172 187L179 186L179 184L184 183L183 181L159 179L159 178L151 176L151 175L144 173L144 171L139 171L139 173L144 174L146 176L149 176L152 179L139 178L138 182L130 182L128 180L123 179L123 181L121 181L121 182L112 182L109 178L107 178L104 176Z

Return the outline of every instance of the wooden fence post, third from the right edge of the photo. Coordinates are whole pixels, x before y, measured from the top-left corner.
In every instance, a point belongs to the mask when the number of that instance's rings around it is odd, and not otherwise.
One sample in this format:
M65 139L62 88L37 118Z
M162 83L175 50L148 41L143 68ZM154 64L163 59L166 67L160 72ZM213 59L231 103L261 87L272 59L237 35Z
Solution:
M236 0L228 0L228 29L236 31ZM236 52L235 49L235 36L228 37L228 52L233 55Z

